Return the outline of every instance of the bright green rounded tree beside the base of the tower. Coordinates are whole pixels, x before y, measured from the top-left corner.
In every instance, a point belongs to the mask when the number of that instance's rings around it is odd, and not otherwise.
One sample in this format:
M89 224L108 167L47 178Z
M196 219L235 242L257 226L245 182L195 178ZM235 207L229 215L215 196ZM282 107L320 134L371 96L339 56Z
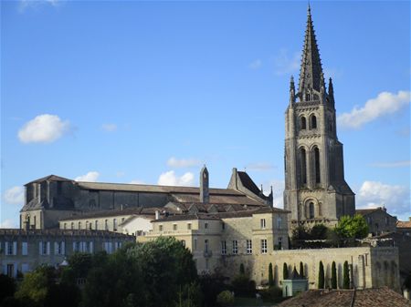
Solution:
M368 234L368 224L361 214L353 217L345 215L338 222L335 231L343 239L363 239Z

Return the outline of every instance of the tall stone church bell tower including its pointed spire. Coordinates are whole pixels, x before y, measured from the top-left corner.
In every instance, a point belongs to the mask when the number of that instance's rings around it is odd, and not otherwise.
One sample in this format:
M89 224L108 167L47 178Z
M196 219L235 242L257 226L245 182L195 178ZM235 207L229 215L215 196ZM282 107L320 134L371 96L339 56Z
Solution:
M353 215L355 198L344 179L332 79L327 91L310 6L299 89L296 92L291 77L285 131L284 208L291 212L290 229L319 222L333 225L343 215Z

